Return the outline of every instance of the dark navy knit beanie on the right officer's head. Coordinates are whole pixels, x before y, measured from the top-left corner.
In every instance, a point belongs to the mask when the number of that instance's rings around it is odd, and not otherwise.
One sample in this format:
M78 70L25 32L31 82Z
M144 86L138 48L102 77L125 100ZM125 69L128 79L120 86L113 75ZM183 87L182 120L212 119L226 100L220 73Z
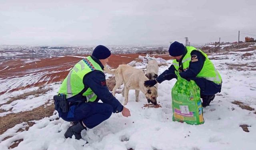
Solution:
M180 56L185 53L185 46L177 41L173 42L169 48L170 56Z

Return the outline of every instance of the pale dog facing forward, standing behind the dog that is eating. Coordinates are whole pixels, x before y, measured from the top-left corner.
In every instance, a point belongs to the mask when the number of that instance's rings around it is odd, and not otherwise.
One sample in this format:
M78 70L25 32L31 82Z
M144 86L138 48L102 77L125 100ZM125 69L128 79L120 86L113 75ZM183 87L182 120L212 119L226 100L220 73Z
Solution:
M149 80L155 80L158 77L158 69L158 62L156 60L148 60L146 77L148 77ZM158 84L156 84L156 88L158 89Z

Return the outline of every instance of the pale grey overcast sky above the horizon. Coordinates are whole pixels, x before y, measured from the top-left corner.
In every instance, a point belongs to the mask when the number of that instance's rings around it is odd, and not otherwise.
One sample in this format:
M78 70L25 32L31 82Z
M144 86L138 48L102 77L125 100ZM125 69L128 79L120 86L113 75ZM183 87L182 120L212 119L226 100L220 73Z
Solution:
M0 44L136 45L256 38L256 0L0 0Z

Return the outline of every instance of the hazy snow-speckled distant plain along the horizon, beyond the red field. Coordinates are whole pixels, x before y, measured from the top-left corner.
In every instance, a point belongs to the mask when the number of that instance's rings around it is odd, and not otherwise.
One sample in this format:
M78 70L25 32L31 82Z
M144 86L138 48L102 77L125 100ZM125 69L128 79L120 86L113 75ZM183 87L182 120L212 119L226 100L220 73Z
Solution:
M14 59L53 58L67 55L90 55L95 46L0 45L0 62ZM168 45L107 46L112 54L136 54L142 51L167 51ZM153 53L152 53L153 54Z

